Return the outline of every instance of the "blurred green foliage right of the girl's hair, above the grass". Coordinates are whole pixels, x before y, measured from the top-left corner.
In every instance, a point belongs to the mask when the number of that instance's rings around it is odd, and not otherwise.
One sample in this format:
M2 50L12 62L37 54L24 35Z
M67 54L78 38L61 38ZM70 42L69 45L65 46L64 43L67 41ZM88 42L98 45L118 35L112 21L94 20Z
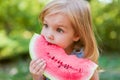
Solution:
M91 7L99 46L120 53L120 1L92 0Z

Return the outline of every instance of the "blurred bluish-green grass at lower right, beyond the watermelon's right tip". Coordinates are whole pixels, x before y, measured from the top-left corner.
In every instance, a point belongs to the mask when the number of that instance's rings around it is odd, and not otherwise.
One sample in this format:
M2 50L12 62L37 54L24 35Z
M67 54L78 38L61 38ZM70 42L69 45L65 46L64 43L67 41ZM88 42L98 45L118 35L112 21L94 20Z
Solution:
M102 72L100 80L120 80L119 54L102 55L99 60Z

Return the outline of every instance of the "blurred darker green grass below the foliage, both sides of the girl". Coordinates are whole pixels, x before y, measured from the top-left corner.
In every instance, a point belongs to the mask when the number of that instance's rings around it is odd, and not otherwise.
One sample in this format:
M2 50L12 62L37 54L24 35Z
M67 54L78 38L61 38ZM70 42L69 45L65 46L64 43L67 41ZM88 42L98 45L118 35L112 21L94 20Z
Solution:
M0 80L32 80L29 73L29 57L0 62ZM101 55L100 80L120 80L120 59L118 54Z

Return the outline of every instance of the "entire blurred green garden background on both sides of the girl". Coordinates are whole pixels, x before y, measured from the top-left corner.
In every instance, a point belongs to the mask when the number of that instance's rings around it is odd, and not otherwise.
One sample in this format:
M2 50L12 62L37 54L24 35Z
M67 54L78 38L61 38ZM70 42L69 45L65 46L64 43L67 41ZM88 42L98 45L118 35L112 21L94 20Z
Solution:
M0 0L0 80L32 80L29 40L51 0ZM100 80L120 80L120 0L88 0L100 50Z

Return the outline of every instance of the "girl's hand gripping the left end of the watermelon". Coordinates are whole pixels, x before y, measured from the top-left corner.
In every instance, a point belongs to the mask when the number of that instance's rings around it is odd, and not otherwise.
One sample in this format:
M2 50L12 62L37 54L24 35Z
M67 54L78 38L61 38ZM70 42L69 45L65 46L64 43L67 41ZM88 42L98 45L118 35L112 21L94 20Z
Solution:
M45 70L45 66L46 66L46 63L45 63L45 60L43 59L36 59L30 62L29 69L34 80L42 80L43 78L42 74Z

